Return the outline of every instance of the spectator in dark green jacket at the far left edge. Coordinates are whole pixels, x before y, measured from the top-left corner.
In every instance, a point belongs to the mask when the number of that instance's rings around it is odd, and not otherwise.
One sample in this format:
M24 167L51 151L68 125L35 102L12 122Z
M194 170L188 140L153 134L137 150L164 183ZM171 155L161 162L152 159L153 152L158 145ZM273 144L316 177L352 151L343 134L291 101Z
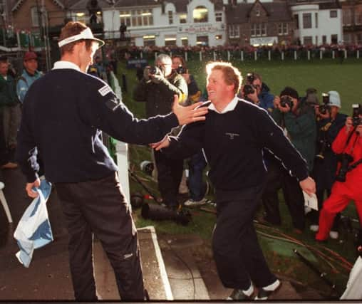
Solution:
M4 138L9 152L16 148L16 134L21 119L16 80L9 73L8 58L0 58L0 103L3 109Z

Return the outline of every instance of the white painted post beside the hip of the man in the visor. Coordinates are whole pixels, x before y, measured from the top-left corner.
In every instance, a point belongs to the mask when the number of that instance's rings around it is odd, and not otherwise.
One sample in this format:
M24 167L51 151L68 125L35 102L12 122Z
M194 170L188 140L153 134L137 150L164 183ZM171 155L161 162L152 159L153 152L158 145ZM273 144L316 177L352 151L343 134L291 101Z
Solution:
M118 178L125 194L125 199L130 203L130 181L128 179L128 145L125 142L115 144L118 164Z

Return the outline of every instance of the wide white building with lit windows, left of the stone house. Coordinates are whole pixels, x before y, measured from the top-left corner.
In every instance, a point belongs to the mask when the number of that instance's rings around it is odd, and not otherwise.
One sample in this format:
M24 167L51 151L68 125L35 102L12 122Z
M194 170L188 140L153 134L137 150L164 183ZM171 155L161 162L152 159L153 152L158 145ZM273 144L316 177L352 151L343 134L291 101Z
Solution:
M122 22L135 46L218 46L225 42L225 16L219 0L120 0L103 7L105 38L120 37Z

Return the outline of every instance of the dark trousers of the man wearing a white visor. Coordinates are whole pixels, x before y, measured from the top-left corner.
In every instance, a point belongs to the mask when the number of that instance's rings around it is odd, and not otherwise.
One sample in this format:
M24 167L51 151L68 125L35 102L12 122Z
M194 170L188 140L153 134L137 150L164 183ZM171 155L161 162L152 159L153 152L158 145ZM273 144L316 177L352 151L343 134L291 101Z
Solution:
M77 301L97 300L93 234L102 243L122 300L144 300L137 231L117 173L103 179L56 183L69 233L69 260Z

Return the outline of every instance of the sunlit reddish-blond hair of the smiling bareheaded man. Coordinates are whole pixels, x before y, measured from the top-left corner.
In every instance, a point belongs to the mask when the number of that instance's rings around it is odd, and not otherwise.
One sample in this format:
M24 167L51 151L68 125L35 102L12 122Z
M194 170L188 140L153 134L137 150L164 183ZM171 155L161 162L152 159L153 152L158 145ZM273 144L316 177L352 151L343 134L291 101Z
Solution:
M242 86L242 73L235 68L231 63L214 61L212 63L207 63L206 73L207 78L209 78L213 70L221 70L224 75L224 80L227 85L234 84L234 93L237 94Z

